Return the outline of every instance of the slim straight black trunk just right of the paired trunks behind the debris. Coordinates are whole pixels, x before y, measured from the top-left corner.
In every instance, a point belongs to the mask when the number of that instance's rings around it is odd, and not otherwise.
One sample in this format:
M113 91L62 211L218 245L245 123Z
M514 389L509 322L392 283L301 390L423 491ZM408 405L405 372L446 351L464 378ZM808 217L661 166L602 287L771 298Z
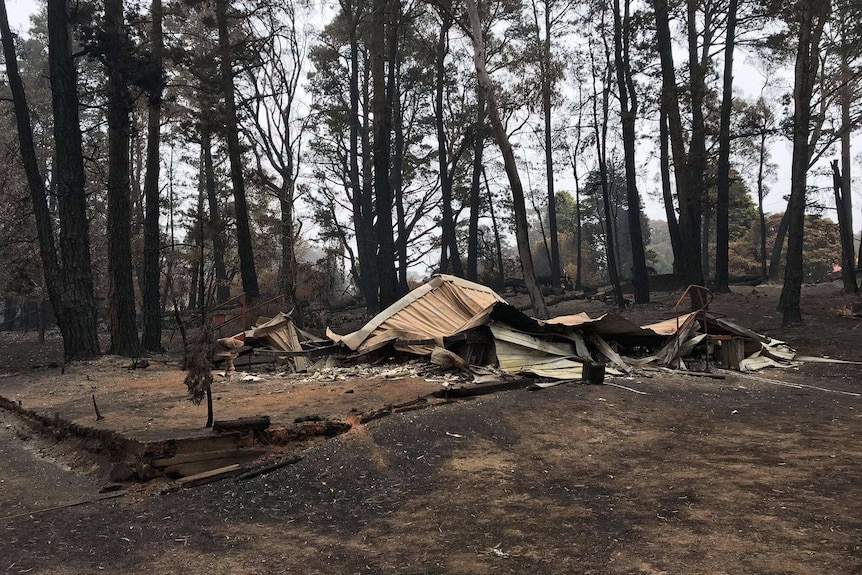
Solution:
M733 105L733 48L736 44L736 10L739 0L730 0L724 48L724 86L718 134L718 202L715 215L715 283L713 290L730 292L730 112Z

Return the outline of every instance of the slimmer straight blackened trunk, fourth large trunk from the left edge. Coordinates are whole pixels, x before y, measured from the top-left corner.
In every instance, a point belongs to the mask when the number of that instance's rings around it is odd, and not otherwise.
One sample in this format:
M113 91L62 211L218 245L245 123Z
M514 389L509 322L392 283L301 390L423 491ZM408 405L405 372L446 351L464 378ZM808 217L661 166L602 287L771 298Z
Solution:
M159 301L159 143L162 120L162 0L151 6L153 28L150 51L153 65L159 69L159 80L147 99L147 171L144 175L144 269L141 275L143 330L141 345L147 351L162 351L162 313Z

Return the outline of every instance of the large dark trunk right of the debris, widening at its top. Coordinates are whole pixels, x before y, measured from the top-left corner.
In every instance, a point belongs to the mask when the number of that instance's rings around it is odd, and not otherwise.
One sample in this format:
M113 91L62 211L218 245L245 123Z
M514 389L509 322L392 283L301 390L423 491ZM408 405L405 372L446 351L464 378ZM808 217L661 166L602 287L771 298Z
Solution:
M802 292L802 247L805 224L805 196L810 159L811 101L820 69L820 38L829 18L831 0L797 0L793 15L798 25L796 64L793 73L793 160L788 202L787 264L784 289L778 309L783 325L802 322L799 298Z

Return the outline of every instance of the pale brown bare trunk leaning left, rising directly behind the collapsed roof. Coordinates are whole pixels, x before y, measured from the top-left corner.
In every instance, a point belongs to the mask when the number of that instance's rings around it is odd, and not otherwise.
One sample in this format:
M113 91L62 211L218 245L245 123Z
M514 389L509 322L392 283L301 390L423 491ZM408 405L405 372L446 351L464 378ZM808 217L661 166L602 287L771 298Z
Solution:
M536 283L536 275L533 270L533 255L530 252L529 224L527 222L527 209L524 202L524 188L521 185L518 166L515 162L515 154L509 143L506 128L500 119L500 112L497 106L497 99L494 95L494 89L491 85L491 78L488 76L488 70L485 67L485 43L482 40L482 24L479 21L479 9L476 6L475 0L465 0L464 4L470 18L470 29L472 31L473 65L476 67L476 76L478 77L479 85L482 86L482 90L485 92L485 101L487 102L491 128L494 131L494 138L497 140L497 145L500 147L500 152L503 155L506 175L512 188L512 204L513 211L515 212L515 236L518 241L518 254L521 258L524 283L530 294L533 313L537 318L547 319L548 308L545 305L542 291L539 289L538 283Z

